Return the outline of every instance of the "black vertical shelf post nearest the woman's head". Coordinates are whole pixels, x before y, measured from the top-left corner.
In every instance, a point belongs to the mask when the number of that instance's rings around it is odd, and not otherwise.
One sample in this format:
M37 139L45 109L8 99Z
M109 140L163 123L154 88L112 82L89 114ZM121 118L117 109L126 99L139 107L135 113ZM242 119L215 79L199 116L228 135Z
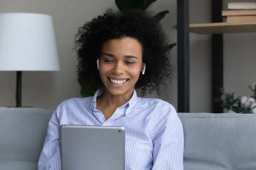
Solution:
M189 112L189 0L177 0L178 109Z

